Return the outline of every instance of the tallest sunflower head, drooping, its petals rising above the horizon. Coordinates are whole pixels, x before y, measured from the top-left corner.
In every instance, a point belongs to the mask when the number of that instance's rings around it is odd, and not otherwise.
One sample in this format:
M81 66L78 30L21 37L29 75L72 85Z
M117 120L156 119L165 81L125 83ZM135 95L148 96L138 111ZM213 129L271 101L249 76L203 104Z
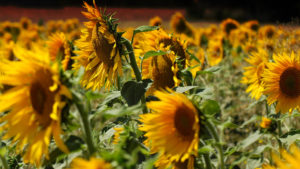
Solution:
M122 74L122 62L116 39L108 27L107 21L100 13L94 1L94 7L84 2L87 12L82 14L90 21L85 22L85 29L75 45L80 49L75 51L78 56L73 68L84 67L85 73L81 83L92 90L105 85L109 89L116 83L118 75Z

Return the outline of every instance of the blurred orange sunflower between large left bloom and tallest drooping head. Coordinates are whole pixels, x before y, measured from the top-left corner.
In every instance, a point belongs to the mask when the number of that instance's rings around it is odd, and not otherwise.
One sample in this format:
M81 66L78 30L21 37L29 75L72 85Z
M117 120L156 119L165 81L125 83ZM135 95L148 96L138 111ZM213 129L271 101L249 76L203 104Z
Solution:
M71 58L71 46L69 45L64 33L55 33L47 42L52 61L56 59L62 61L64 70L68 69Z

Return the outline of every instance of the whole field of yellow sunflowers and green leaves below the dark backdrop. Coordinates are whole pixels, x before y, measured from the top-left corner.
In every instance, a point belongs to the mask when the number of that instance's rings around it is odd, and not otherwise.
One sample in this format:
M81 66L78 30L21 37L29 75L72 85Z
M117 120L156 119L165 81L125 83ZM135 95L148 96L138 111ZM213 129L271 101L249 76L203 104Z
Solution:
M300 169L299 26L82 15L0 22L0 168Z

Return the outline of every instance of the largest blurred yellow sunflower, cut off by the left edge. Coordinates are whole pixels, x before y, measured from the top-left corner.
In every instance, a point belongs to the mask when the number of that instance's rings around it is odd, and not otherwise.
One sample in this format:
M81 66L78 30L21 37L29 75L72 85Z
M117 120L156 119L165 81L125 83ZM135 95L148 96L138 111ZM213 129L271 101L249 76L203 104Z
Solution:
M16 152L25 163L40 165L43 157L49 158L48 146L53 136L56 145L68 152L62 134L61 110L64 97L71 98L68 89L59 80L56 63L50 63L47 52L34 48L27 51L15 48L19 61L1 60L0 83L12 86L0 95L0 131L3 139L16 143Z

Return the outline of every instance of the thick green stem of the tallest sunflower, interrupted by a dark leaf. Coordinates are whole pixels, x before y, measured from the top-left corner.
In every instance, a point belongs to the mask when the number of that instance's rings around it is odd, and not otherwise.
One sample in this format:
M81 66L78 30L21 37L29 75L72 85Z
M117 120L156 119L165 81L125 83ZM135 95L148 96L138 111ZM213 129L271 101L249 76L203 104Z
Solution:
M130 66L132 67L133 69L133 72L134 72L134 75L135 75L135 78L136 78L136 81L137 82L140 82L142 81L142 74L139 70L139 67L136 63L136 60L135 60L135 55L134 55L134 52L133 52L133 48L132 48L132 44L131 42L126 39L126 38L122 38L123 42L124 42L124 45L128 51L128 55L129 55L129 60L130 60ZM147 107L146 107L146 99L145 99L145 95L142 96L141 98L141 102L142 104L144 105L143 106L143 113L147 113L148 110L147 110Z

